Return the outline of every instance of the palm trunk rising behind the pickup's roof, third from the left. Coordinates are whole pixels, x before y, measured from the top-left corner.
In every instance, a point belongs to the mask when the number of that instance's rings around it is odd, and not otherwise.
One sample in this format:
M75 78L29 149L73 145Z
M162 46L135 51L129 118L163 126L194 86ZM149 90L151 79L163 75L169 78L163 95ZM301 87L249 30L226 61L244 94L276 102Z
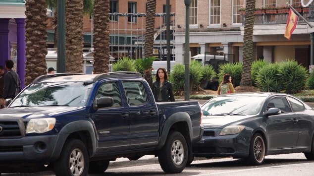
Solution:
M94 3L94 74L109 71L109 0Z

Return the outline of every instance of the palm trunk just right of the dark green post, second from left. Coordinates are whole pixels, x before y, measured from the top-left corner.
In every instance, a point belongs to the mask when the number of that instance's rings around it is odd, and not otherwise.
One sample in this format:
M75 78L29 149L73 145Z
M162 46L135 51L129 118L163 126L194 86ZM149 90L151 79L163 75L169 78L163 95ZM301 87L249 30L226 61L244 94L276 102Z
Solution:
M66 72L83 72L83 0L66 0Z

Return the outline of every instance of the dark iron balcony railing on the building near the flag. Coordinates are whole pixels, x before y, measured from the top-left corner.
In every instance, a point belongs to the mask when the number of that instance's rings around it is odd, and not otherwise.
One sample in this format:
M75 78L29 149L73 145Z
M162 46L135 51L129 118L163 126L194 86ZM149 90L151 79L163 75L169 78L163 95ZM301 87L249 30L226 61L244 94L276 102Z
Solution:
M309 12L300 12L305 18L309 18ZM288 13L276 13L276 14L255 14L254 25L271 25L271 24L287 24ZM242 25L244 26L245 15L241 15ZM298 24L306 23L299 17Z

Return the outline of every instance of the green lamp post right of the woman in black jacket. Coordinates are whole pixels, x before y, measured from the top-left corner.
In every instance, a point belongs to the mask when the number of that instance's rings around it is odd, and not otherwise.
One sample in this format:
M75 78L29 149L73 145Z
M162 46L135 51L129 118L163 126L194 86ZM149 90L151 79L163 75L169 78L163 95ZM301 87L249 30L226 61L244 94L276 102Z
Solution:
M191 0L184 0L185 4L185 52L184 52L184 100L190 100L190 4Z

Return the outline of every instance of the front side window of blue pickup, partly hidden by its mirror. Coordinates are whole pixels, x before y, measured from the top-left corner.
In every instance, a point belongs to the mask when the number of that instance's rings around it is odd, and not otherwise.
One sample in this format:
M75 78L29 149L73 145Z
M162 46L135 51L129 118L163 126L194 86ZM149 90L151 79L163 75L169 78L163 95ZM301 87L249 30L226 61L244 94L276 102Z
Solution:
M116 82L103 83L97 91L96 98L111 97L112 107L121 107L121 94Z

